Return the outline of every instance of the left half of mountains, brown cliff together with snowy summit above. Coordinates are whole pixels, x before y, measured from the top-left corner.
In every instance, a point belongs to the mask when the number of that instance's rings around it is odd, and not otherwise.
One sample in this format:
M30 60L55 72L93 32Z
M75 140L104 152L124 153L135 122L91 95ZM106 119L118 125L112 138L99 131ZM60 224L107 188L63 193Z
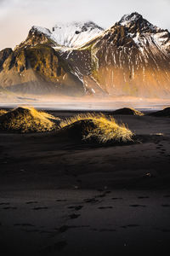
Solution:
M55 48L80 46L101 31L103 29L93 22L54 26L52 32L32 26L26 40L14 51L0 51L0 89L30 94L84 95L82 80Z

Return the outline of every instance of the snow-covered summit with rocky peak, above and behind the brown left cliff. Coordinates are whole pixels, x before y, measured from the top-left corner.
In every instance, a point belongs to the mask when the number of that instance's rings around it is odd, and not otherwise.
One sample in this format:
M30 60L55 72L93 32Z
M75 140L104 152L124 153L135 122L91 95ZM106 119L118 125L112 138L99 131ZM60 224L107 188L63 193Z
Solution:
M104 29L92 21L58 23L50 31L41 26L32 26L26 41L19 45L32 46L36 44L49 44L53 47L79 48L92 38L97 37Z

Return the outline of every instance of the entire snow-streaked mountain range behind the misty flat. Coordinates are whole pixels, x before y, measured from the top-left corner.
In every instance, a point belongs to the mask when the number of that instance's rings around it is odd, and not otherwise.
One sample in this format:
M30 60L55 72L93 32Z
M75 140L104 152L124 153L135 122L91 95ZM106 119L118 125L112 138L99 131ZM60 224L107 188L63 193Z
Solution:
M70 96L170 97L170 33L142 15L104 30L94 22L32 26L0 51L2 89Z

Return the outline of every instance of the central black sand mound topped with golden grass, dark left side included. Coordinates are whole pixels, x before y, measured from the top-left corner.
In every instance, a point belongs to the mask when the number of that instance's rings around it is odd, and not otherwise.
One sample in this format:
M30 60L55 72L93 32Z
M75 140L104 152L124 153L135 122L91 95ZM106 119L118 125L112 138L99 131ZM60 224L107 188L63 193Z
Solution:
M117 125L116 120L104 114L79 114L60 123L61 133L82 140L93 139L99 143L133 141L133 132L125 125Z

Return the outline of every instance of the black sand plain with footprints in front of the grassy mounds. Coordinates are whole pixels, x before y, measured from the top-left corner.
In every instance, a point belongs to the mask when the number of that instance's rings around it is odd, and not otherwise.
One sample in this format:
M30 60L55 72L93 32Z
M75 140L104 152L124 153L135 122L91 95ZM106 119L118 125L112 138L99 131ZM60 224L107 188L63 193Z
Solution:
M137 143L0 134L2 255L170 253L170 119L116 119Z

